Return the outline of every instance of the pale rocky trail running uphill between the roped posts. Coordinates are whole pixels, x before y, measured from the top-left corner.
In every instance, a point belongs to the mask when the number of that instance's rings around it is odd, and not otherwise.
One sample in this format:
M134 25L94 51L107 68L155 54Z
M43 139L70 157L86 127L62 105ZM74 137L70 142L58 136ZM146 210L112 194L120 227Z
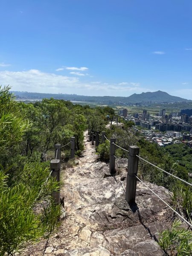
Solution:
M29 245L22 255L162 256L155 240L168 226L167 207L138 182L137 205L130 208L125 201L126 169L117 168L116 176L110 176L108 164L98 161L87 132L84 135L79 164L61 172L66 211L61 227L47 244L42 240ZM147 184L166 199L166 189Z

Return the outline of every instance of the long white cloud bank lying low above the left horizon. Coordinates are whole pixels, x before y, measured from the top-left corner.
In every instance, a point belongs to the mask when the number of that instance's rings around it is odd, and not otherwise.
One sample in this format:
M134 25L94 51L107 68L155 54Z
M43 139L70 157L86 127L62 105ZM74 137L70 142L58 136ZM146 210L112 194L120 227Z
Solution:
M75 72L76 73L76 72ZM10 85L12 90L39 93L76 93L79 95L95 96L129 96L132 93L146 92L149 89L140 87L139 83L110 84L102 81L84 82L81 76L62 76L45 73L40 70L1 71L2 85ZM121 84L121 83L120 83Z

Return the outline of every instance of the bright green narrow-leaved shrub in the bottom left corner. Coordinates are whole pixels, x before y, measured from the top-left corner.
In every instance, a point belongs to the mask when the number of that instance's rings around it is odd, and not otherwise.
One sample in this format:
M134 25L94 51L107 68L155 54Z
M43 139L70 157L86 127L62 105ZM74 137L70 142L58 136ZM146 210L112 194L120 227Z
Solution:
M45 183L47 176L48 169L40 165L25 166L17 184L9 187L8 175L0 170L0 255L12 255L28 241L49 236L58 224L60 206L50 197L58 184L52 177Z

